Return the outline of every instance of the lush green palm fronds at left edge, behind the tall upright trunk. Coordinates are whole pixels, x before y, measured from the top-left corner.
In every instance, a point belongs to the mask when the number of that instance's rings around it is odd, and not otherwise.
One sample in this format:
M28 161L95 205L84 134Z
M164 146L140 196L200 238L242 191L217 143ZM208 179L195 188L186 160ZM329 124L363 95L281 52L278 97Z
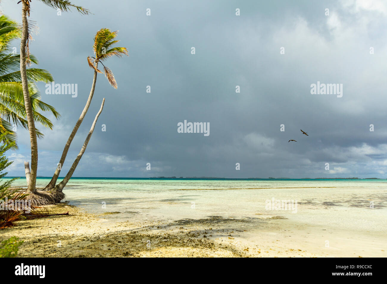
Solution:
M26 110L24 107L24 96L21 83L20 55L10 53L9 45L12 39L20 38L21 30L17 22L10 20L7 16L0 16L0 134L4 134L2 142L13 143L13 148L17 149L16 134L12 124L28 128L26 120ZM31 55L31 63L38 64L38 60ZM53 124L50 119L43 116L40 111L50 111L55 118L60 114L51 105L40 100L39 89L35 82L52 82L51 74L43 69L27 69L27 79L29 92L31 94L31 105L33 108L34 120L50 129ZM36 129L38 138L43 134Z

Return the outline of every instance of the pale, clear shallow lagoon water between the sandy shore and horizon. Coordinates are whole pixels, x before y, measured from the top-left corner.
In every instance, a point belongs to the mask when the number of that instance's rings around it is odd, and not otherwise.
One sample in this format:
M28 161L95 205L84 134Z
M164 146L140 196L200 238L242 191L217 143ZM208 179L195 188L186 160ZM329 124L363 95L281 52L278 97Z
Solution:
M37 179L43 187L50 179ZM25 185L19 179L13 185ZM385 233L387 180L71 179L70 204L130 221L281 216L295 224ZM266 201L293 200L296 210L267 210ZM373 208L372 208L373 207ZM294 209L295 209L294 208Z

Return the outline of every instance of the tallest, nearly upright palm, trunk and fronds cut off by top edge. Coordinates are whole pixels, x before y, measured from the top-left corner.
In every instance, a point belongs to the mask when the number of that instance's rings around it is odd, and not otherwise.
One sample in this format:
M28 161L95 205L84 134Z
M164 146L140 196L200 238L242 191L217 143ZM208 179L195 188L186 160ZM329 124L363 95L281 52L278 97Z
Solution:
M49 7L54 9L60 9L62 11L70 11L75 8L80 14L88 14L89 10L83 7L73 5L68 0L38 0L43 2ZM29 179L27 191L34 192L36 187L36 172L38 170L38 144L36 141L36 129L34 123L33 108L30 101L30 94L28 88L28 77L26 63L29 62L29 27L27 21L27 14L30 14L30 1L20 0L18 3L22 3L22 37L20 42L20 72L21 81L24 95L24 106L26 109L28 131L31 140L31 175Z

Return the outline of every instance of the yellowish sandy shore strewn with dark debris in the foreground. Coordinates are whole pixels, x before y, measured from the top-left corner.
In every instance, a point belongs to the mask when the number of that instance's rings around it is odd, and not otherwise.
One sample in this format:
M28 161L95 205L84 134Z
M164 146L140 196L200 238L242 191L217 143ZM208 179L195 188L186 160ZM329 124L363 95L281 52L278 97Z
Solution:
M366 232L335 232L294 224L283 216L135 222L115 220L118 212L85 213L65 202L46 207L52 213L69 211L70 215L19 221L2 230L0 240L11 236L24 240L17 257L386 256L383 238L365 240ZM326 239L330 247L324 246ZM378 243L380 249L375 248Z

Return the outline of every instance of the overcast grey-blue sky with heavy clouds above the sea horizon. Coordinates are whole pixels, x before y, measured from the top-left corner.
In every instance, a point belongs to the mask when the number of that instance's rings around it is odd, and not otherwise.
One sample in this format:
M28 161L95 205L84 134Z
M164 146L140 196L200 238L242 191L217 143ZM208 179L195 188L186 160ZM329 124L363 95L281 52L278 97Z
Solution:
M94 34L107 27L119 30L117 46L130 56L106 61L118 89L98 75L61 176L106 98L74 177L387 177L386 1L72 2L93 14L58 16L31 2L39 34L30 50L39 68L55 83L78 84L76 98L38 85L62 115L38 140L38 175L57 167L89 95ZM21 21L16 0L2 0L0 9ZM318 81L342 84L342 97L311 94ZM178 133L184 120L209 123L209 136ZM9 176L23 176L30 159L27 131L18 136Z

